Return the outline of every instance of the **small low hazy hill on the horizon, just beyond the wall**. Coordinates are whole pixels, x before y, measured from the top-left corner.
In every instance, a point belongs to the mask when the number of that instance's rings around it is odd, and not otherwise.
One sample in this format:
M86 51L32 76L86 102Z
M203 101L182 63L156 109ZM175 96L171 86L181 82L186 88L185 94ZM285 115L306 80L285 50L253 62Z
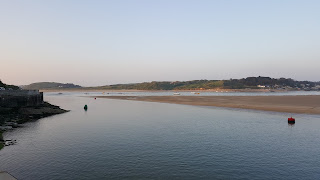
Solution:
M81 88L79 85L72 83L57 83L57 82L38 82L30 85L22 86L22 89L70 89L70 88Z

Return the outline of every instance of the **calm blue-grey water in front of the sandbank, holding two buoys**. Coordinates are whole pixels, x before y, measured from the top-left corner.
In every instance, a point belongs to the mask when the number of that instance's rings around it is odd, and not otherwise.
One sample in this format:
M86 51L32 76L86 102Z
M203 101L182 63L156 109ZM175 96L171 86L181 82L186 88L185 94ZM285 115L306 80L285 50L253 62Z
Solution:
M320 116L46 96L71 112L7 132L18 179L319 179ZM88 104L88 111L83 110Z

